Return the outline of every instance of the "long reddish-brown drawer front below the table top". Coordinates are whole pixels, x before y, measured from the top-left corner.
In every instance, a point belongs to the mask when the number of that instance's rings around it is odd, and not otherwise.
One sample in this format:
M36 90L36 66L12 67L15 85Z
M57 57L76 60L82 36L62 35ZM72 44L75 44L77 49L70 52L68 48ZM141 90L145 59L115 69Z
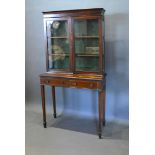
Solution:
M62 87L100 89L100 82L86 80L65 80L65 79L41 79L41 84Z

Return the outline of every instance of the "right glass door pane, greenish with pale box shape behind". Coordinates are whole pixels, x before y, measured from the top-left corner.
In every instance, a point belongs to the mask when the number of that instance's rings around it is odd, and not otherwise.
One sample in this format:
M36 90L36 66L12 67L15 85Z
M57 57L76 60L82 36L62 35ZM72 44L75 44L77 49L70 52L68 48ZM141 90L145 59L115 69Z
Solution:
M98 20L75 20L75 66L78 71L98 71Z

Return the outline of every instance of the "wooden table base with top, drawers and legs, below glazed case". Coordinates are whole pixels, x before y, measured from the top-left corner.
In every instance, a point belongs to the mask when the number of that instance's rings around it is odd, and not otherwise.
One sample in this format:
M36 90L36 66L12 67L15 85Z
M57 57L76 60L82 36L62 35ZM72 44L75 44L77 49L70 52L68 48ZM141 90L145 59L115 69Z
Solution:
M105 125L105 77L103 75L87 75L87 74L67 74L67 73L44 73L40 75L40 84L42 88L42 105L43 105L43 120L44 127L46 126L46 112L45 112L45 94L44 85L52 86L53 109L54 117L56 118L56 101L55 101L55 86L57 87L74 87L97 89L98 96L98 135L102 137L102 125Z

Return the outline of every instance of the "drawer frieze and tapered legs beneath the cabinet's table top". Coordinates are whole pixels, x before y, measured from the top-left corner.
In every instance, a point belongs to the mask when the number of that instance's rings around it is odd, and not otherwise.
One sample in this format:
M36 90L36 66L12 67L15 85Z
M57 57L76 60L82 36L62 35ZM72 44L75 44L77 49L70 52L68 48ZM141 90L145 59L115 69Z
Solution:
M50 75L52 76L52 75ZM46 105L45 105L45 84L52 87L52 102L53 102L53 116L56 118L56 94L55 86L75 87L75 88L89 88L98 90L98 136L102 138L102 128L105 125L105 87L104 80L87 79L73 79L72 78L52 78L52 77L41 78L41 96L42 96L42 110L43 110L43 125L46 128ZM82 75L81 75L82 76ZM75 76L74 76L75 77ZM80 78L80 76L79 76ZM82 77L83 78L83 77ZM91 78L91 77L89 77ZM96 78L98 78L96 76Z

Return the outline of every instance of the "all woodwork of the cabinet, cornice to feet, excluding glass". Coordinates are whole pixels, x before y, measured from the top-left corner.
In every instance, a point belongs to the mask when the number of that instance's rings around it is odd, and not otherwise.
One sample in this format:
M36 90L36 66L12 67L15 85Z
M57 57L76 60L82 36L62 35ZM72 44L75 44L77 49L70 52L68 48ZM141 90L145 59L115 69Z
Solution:
M43 12L44 16L44 38L45 38L45 51L46 51L46 68L47 72L40 75L41 97L42 97L42 110L43 110L43 125L46 127L46 109L45 109L45 89L44 86L48 85L52 88L52 100L54 118L56 118L56 97L55 87L74 87L98 90L98 135L102 137L102 126L105 125L105 86L106 86L106 73L105 73L105 57L103 58L104 49L104 31L102 31L102 20L104 15L104 9L80 9L80 10L63 10L63 11L48 11ZM75 20L98 20L98 36L76 36L74 35L74 22ZM48 36L48 23L55 20L66 20L68 23L69 33L69 68L68 69L49 69L48 56L54 54L48 54L48 38L51 39L66 39L66 36ZM99 70L96 71L76 71L75 69L75 38L76 39L98 39L99 42L99 55L87 54L82 55L76 53L79 57L87 56L91 59L92 56L99 57ZM81 51L82 52L82 51ZM63 54L62 54L63 55ZM104 71L103 71L104 70Z

